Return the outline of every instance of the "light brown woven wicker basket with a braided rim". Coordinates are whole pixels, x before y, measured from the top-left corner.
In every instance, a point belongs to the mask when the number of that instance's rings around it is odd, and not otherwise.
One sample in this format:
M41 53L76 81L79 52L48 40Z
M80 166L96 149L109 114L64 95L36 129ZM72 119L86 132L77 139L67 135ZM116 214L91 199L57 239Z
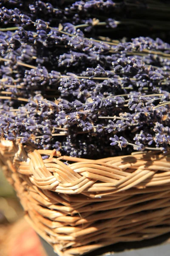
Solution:
M168 154L87 160L1 140L0 162L27 221L60 256L170 232Z

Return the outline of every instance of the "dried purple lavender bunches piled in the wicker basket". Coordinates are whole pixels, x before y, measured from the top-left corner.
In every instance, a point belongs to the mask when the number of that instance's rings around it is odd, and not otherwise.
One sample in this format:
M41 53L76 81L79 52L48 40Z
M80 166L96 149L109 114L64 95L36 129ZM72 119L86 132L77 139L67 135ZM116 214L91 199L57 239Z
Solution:
M1 138L93 159L169 150L169 3L0 8Z

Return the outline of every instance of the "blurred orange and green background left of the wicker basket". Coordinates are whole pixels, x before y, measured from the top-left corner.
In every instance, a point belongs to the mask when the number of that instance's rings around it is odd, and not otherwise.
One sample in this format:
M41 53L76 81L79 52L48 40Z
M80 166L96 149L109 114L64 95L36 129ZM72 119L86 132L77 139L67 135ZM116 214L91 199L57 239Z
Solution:
M14 189L0 171L0 256L47 256L23 217Z

